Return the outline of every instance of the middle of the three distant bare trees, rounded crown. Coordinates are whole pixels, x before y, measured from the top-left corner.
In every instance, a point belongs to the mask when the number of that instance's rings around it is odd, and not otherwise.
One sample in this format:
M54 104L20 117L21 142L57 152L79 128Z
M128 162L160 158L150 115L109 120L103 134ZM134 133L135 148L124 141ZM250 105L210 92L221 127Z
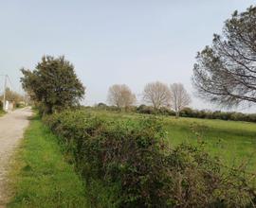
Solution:
M159 81L148 83L143 91L143 100L155 109L170 105L171 93L168 86Z

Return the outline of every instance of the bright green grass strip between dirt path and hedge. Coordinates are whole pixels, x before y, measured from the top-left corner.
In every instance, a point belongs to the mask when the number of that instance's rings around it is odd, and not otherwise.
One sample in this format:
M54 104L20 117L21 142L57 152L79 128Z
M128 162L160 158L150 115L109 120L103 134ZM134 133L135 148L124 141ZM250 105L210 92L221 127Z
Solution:
M39 119L31 120L12 169L8 207L87 207L82 180Z

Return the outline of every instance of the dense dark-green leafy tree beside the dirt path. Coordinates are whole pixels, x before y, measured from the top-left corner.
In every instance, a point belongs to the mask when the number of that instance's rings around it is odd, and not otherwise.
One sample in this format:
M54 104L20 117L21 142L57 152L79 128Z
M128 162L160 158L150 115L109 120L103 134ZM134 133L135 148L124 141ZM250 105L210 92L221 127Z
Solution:
M64 57L44 56L33 71L22 69L22 86L30 97L43 105L43 113L53 113L79 104L85 88L74 66Z

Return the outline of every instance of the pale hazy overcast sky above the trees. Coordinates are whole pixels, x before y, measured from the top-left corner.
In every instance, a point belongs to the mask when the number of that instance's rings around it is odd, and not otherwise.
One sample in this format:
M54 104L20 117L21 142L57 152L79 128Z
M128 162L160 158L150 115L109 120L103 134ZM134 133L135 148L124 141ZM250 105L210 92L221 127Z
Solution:
M21 92L20 68L64 55L87 87L85 103L105 102L112 84L138 96L147 82L192 89L196 52L224 21L255 0L0 0L0 74ZM0 78L3 91L3 78ZM212 108L192 96L193 108ZM217 108L214 108L217 109ZM239 108L238 111L242 111ZM251 111L251 110L246 110Z

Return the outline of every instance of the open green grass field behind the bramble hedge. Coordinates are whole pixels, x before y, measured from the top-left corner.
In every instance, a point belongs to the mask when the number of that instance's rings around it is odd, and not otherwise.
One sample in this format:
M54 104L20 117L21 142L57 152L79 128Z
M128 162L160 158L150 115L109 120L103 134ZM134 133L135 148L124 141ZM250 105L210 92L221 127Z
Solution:
M94 111L102 116L119 119L139 119L152 115L137 113L109 113ZM224 121L217 119L158 116L167 131L170 146L181 143L204 146L212 155L218 156L226 165L247 165L256 171L256 123Z

